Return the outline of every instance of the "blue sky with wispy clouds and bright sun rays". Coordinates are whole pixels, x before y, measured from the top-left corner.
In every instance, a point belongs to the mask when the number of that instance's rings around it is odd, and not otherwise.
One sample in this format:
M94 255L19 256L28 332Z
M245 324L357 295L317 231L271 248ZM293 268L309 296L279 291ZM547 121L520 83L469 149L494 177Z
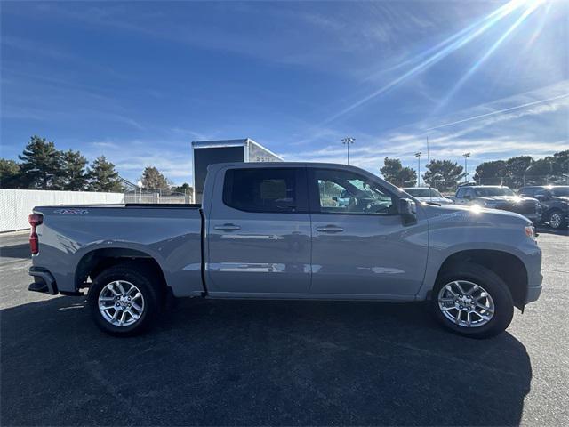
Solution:
M2 2L2 157L30 135L191 182L190 142L378 173L569 149L569 2ZM423 157L423 165L425 162ZM424 172L424 171L423 171Z

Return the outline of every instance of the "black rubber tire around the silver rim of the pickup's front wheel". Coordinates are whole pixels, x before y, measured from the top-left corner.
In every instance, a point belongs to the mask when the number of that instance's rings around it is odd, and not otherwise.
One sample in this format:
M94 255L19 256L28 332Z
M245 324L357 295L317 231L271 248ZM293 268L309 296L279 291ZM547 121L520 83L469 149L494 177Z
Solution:
M493 299L494 311L492 318L485 325L477 327L461 326L445 317L443 310L439 307L438 294L443 286L455 280L472 282L477 286L482 286L487 294L490 294ZM470 338L490 338L501 334L509 326L514 316L514 301L506 283L492 270L472 262L454 264L452 268L446 270L437 278L437 284L433 288L430 307L435 318L442 326L445 326L446 329L455 334L461 334ZM455 313L456 311L453 312Z

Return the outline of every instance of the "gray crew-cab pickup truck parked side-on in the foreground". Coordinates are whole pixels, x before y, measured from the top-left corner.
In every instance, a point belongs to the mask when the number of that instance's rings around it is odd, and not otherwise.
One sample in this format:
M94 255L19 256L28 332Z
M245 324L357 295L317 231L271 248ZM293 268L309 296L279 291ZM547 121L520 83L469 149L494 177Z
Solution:
M29 289L88 289L95 323L116 335L151 325L172 295L426 301L480 338L541 293L523 216L421 203L346 165L211 165L202 205L42 206L29 222Z

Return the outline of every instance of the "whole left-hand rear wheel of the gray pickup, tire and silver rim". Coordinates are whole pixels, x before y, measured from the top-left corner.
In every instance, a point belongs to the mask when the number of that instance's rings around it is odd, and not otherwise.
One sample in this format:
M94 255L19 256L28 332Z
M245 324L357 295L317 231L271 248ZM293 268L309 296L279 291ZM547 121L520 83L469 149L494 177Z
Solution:
M158 310L159 287L151 271L121 264L103 270L89 290L89 308L95 324L108 334L140 334L152 324Z

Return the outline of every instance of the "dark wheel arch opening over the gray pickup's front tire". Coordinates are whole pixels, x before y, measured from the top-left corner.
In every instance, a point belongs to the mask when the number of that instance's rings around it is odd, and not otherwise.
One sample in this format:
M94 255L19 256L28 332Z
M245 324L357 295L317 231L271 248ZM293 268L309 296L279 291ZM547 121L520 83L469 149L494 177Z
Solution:
M437 272L437 279L447 270L461 262L472 262L481 265L497 274L508 286L514 304L524 310L525 296L528 286L528 275L525 263L514 254L494 249L467 249L448 255Z

